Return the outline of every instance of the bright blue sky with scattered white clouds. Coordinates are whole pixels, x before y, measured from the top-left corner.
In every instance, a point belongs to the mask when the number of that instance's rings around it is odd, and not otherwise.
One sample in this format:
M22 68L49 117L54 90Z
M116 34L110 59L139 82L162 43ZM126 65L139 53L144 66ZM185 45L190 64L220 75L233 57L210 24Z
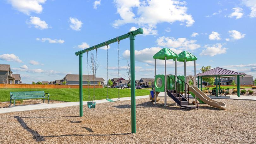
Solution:
M197 72L210 65L256 77L256 0L1 0L0 13L0 63L10 64L23 83L78 74L76 51L138 27L144 34L135 40L137 80L154 78L152 56L163 47L193 53ZM129 47L129 39L120 42L124 78ZM108 51L108 77L117 77L117 43ZM98 59L96 76L106 80L106 48L98 50ZM164 74L164 61L157 64L157 74ZM174 62L167 64L167 73L174 74ZM178 66L183 75L183 63ZM86 54L83 68L87 74ZM193 69L188 63L187 75Z

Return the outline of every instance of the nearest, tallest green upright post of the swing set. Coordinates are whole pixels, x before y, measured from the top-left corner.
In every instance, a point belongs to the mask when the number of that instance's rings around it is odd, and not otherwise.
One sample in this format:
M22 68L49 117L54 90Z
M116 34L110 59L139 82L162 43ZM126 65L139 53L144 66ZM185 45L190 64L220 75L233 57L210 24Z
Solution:
M130 35L130 61L131 61L131 133L136 133L136 101L135 101L135 36Z

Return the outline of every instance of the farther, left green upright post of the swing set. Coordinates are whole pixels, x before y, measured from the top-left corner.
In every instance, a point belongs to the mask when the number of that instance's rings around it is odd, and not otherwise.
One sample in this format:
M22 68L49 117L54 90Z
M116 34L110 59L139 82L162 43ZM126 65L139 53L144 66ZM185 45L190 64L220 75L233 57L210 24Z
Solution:
M83 116L83 69L82 69L83 54L79 54L79 116Z

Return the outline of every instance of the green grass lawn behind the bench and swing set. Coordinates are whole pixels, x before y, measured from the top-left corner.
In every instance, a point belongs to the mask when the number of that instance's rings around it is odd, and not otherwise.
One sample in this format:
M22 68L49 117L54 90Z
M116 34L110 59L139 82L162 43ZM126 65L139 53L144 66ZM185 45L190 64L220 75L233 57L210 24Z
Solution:
M50 94L50 100L64 101L64 102L78 102L79 101L79 89L0 89L0 102L10 101L10 91L45 91L45 93ZM120 97L130 97L130 89L119 89ZM148 89L135 90L136 96L149 95ZM90 89L90 96L93 97L93 89ZM96 88L95 89L95 99L106 99L107 88ZM118 89L108 88L109 98L118 97ZM83 101L88 100L88 89L83 89Z

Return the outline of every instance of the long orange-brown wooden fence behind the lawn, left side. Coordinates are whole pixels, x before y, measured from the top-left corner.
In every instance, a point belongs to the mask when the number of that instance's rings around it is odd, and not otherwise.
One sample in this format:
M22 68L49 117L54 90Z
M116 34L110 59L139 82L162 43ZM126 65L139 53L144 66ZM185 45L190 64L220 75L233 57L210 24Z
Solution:
M27 84L0 84L0 88L79 88L79 85L27 85ZM83 86L88 88L88 86ZM90 86L93 88L93 86ZM103 86L96 85L95 88L103 88Z

